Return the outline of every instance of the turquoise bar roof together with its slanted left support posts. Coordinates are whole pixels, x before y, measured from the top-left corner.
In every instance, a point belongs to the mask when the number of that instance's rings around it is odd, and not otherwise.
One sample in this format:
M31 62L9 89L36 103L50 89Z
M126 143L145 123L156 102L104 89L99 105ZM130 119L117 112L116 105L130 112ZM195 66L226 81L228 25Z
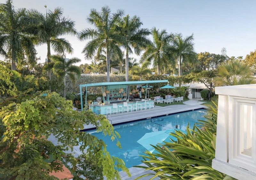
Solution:
M91 83L91 84L81 84L79 85L80 90L80 100L81 100L81 110L83 110L83 97L82 97L82 87L85 87L85 109L86 109L86 101L87 101L87 88L88 87L103 87L104 86L113 86L113 85L148 85L148 84L155 84L155 83L168 83L168 80L151 80L151 81L121 81L121 82L100 82L100 83ZM147 91L147 90L146 90ZM130 91L129 91L130 92ZM128 94L126 94L128 95ZM133 104L133 103L132 103ZM109 104L110 105L110 104ZM109 106L108 105L108 106ZM104 109L105 110L105 109ZM92 111L94 111L92 109ZM95 109L96 111L96 109Z

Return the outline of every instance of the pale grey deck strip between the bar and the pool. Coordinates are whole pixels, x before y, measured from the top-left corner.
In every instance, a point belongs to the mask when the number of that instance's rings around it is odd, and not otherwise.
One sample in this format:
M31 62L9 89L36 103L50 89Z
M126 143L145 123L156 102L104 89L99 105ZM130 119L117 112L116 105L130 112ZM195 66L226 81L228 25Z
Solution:
M205 108L204 105L201 105L202 103L204 102L189 100L189 101L185 101L184 104L170 105L165 107L155 106L154 109L153 108L146 109L146 110L143 109L143 110L132 111L132 112L111 114L111 115L108 115L107 118L111 124L126 123L126 122L140 120L140 119L150 119L156 116L164 116L164 115L167 116L173 113ZM95 126L91 124L84 125L85 130L91 129L91 128L95 128Z

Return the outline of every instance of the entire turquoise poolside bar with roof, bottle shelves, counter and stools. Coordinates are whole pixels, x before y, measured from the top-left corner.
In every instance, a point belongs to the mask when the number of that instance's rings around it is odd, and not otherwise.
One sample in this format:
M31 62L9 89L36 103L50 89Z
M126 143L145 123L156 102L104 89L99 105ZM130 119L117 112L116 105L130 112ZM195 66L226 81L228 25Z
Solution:
M97 115L106 115L154 108L154 100L149 99L149 85L167 82L168 80L152 80L83 84L79 86L81 109L86 110L88 107ZM101 87L102 96L87 104L87 90L90 87Z

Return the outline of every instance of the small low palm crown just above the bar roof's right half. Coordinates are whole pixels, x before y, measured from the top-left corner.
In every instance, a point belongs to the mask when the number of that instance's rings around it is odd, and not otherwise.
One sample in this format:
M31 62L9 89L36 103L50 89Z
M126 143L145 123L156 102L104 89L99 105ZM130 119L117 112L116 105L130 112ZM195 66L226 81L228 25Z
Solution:
M142 76L146 76L148 74L151 74L151 70L148 69L148 66L150 65L150 62L146 61L142 63L141 65L135 65L131 68L131 74L135 77L139 77L139 80L141 81Z

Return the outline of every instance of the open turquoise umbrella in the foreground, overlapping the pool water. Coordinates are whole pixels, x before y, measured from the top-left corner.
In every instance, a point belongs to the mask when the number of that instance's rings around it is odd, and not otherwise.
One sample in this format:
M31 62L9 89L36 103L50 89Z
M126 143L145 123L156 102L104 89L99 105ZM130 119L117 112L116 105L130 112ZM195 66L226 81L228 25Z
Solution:
M148 132L146 134L144 134L144 136L142 136L142 138L140 138L137 143L139 143L140 145L144 146L149 152L153 152L155 149L154 147L151 146L152 145L156 145L158 143L162 143L162 142L170 142L170 139L173 140L177 140L174 136L171 136L170 133L171 132L175 132L176 131L182 131L180 129L169 129L169 130L165 130L165 131L155 131L155 132ZM182 131L184 133L186 133L185 131Z

